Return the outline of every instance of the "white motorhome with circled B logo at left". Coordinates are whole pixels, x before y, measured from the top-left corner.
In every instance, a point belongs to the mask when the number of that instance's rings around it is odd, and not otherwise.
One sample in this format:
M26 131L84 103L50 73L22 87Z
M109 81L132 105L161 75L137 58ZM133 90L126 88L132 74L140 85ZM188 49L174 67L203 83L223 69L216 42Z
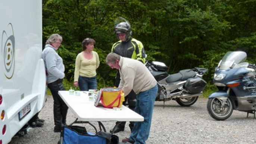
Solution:
M0 0L0 144L7 144L46 102L42 1Z

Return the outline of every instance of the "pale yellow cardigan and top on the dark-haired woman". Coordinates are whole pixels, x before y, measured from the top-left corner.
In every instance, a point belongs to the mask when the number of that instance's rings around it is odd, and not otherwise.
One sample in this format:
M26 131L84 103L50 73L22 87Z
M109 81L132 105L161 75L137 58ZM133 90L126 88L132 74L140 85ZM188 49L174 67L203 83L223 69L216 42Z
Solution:
M100 65L100 60L98 53L96 51L93 52L93 57L91 59L86 59L83 56L83 52L77 55L77 59L75 60L75 75L74 82L78 81L79 75L91 78L96 76L96 69Z

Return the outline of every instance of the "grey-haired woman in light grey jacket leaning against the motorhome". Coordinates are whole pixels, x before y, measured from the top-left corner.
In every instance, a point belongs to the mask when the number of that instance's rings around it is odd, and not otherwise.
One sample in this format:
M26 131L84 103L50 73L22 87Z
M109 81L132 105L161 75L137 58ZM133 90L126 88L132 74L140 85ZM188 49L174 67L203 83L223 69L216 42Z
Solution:
M66 116L68 106L59 96L59 90L65 90L62 81L65 77L65 67L63 60L56 53L62 43L62 37L59 34L52 34L46 41L46 46L42 53L47 72L47 87L50 89L53 96L53 114L54 114L54 132L61 131L61 124L66 125Z

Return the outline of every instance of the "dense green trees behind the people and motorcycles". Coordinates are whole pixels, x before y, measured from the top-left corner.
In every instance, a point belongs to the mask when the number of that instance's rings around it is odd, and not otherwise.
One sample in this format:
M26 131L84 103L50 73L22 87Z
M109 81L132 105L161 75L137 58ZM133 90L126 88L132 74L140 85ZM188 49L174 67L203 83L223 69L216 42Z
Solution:
M67 83L73 83L81 42L90 37L101 61L98 86L113 85L115 71L104 59L117 41L118 16L130 22L132 37L143 43L147 59L164 62L170 74L207 68L208 89L214 67L227 51L245 51L248 61L256 63L256 0L43 0L43 41L53 33L62 35L58 53Z

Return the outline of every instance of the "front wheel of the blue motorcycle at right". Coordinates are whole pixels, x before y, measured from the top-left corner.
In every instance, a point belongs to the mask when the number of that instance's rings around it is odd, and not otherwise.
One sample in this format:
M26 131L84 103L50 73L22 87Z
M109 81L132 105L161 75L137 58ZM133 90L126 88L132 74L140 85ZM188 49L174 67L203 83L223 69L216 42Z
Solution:
M218 98L209 98L207 103L207 111L209 115L216 120L228 119L233 112L233 104L230 98L227 98L227 104L222 106Z

